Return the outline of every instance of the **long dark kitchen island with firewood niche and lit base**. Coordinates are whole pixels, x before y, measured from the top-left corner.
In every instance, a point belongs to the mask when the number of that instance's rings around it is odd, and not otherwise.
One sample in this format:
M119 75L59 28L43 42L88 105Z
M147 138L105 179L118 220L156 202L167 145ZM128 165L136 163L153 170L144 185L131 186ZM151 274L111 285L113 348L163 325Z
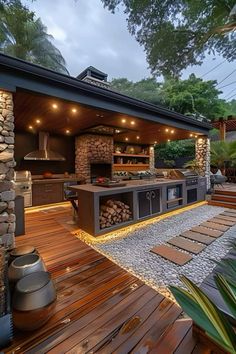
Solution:
M78 195L78 226L99 236L205 199L206 179L195 185L185 179L125 181L122 187L72 186Z

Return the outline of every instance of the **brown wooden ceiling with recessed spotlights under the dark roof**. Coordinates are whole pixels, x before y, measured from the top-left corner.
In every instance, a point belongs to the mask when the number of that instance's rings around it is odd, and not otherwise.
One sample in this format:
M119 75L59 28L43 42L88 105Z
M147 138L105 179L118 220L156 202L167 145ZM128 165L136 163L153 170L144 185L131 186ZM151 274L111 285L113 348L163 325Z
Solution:
M54 134L78 135L97 125L114 127L121 132L114 135L115 141L154 144L170 140L194 137L196 133L150 122L141 118L111 111L102 111L89 106L17 91L14 94L16 131L47 131Z

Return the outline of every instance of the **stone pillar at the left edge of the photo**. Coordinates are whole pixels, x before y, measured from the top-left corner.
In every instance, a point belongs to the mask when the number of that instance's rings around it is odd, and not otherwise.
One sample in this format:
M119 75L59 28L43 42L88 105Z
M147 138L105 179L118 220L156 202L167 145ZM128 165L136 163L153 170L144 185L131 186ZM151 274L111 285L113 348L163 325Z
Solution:
M12 93L0 91L0 244L14 245L14 115Z

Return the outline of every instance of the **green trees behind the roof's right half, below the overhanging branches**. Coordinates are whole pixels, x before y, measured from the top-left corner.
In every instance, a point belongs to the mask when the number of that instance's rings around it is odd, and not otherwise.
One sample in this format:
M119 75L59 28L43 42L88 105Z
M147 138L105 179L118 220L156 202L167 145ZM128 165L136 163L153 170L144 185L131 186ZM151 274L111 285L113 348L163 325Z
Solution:
M139 82L125 78L113 79L111 87L128 96L160 104L182 114L204 116L211 120L236 114L233 103L219 98L221 91L217 89L217 81L204 81L194 74L186 80L167 79L162 83L154 78Z

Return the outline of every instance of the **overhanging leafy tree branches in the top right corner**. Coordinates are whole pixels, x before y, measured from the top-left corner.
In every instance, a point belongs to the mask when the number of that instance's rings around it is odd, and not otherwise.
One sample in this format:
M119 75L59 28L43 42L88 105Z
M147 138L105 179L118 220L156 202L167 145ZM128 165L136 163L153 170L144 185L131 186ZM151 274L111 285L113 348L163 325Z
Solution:
M153 75L178 77L206 55L236 59L235 0L102 0L122 8L128 29L144 47Z

